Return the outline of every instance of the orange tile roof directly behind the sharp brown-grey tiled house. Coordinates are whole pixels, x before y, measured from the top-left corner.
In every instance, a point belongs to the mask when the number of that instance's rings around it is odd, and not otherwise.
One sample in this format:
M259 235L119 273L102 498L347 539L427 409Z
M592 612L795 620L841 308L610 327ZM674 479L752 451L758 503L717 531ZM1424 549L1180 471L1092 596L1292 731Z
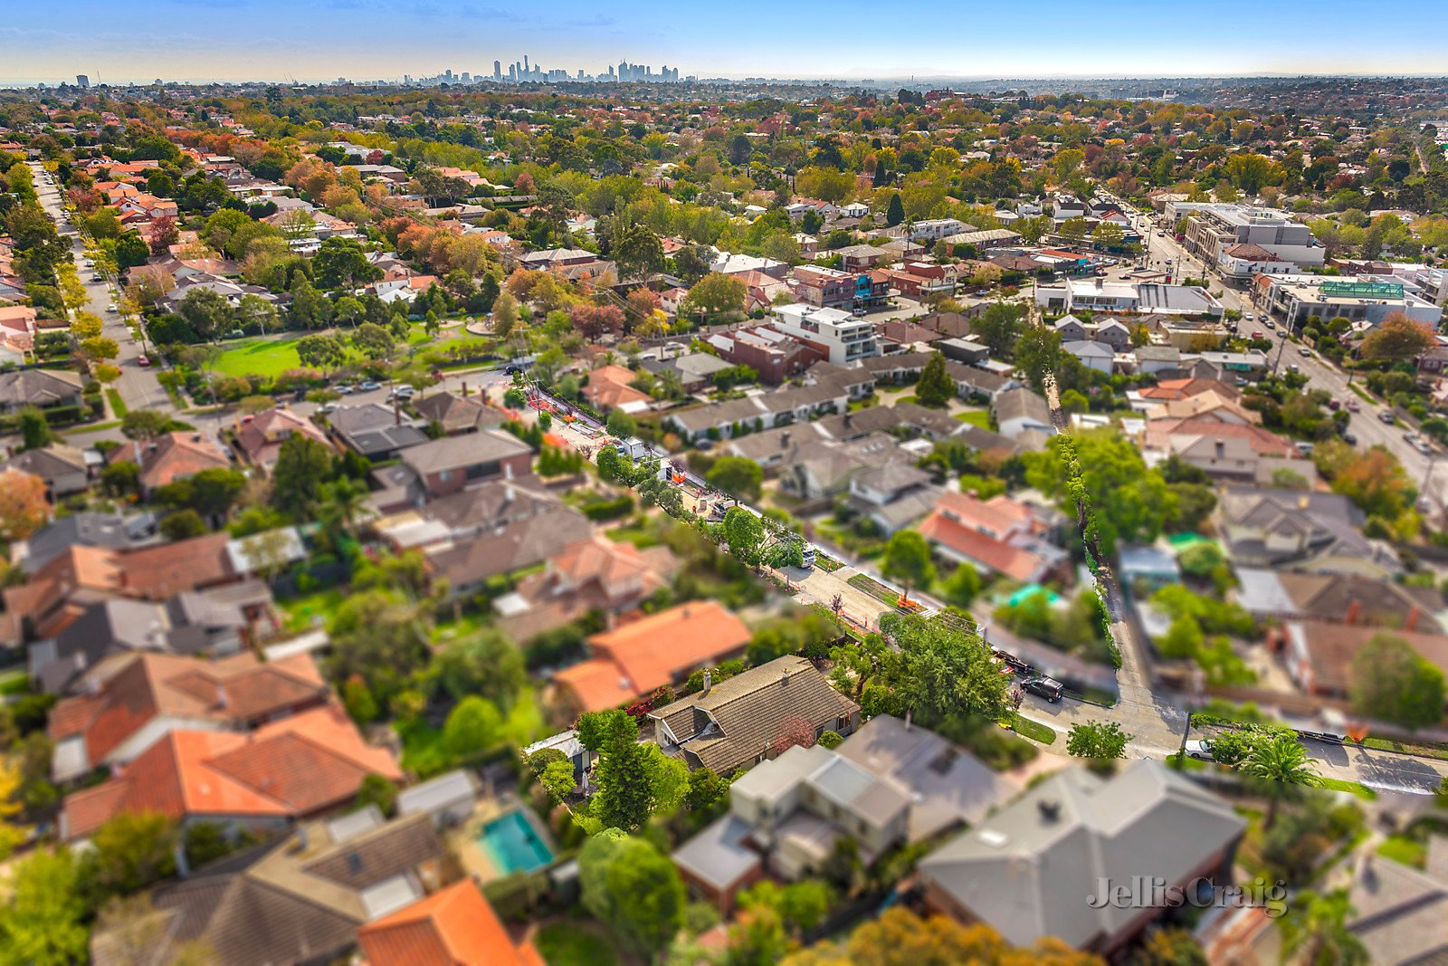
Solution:
M602 711L737 653L749 627L714 601L679 604L588 639L594 658L555 679L585 711Z

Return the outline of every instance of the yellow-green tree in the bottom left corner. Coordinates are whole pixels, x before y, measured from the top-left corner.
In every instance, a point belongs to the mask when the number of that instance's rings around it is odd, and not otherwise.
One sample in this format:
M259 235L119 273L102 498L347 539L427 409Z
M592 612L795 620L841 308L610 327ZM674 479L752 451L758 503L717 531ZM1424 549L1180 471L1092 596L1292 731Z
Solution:
M0 904L0 962L71 966L88 959L88 910L70 849L36 849L10 866Z

